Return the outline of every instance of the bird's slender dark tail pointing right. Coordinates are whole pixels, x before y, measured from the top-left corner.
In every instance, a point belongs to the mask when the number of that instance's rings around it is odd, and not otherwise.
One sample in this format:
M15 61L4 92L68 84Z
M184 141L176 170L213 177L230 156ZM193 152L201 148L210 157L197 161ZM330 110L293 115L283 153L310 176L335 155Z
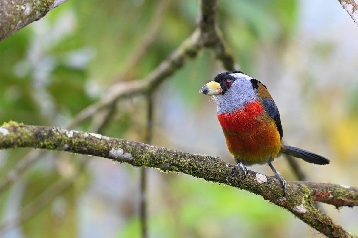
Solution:
M296 158L301 158L309 163L329 164L329 160L324 158L323 156L289 145L281 145L281 153L292 155Z

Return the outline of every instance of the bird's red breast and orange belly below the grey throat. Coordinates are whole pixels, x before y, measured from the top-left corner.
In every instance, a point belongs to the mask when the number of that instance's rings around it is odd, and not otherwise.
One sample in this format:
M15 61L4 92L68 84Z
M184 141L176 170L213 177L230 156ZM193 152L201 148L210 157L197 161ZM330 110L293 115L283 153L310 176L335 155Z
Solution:
M232 113L218 114L231 155L245 165L265 164L280 151L281 139L275 120L258 101Z

